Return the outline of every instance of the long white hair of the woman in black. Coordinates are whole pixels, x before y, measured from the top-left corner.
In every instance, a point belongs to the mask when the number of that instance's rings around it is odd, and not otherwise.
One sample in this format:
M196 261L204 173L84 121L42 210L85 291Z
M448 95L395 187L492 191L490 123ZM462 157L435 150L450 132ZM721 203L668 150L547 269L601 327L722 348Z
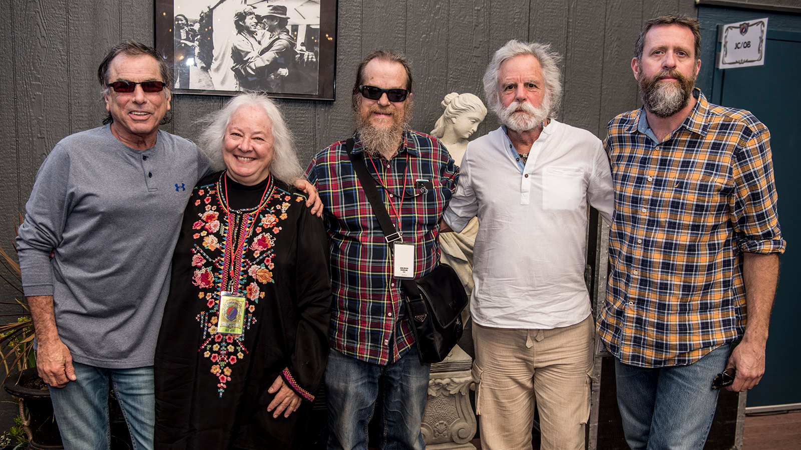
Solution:
M244 92L231 98L219 111L207 115L201 120L203 133L198 139L198 145L203 154L211 160L211 168L221 171L225 168L223 163L223 140L225 129L231 123L231 116L241 107L252 106L261 108L272 122L272 164L270 173L284 183L292 185L296 179L303 175L298 157L295 152L295 139L284 122L284 116L273 102L264 94Z

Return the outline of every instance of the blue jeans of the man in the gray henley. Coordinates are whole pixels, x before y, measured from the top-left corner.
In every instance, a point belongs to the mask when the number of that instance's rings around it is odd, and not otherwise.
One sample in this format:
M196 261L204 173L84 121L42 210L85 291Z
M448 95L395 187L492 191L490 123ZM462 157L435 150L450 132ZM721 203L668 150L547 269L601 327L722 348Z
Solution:
M73 362L78 380L50 388L58 431L66 450L108 450L109 385L123 409L134 450L153 448L153 368L107 369Z

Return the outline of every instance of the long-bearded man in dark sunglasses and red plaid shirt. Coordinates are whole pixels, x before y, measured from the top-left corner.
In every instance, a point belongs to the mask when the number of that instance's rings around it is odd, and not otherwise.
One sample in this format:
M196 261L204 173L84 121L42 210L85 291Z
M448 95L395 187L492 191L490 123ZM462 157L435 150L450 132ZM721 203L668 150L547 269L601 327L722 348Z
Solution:
M352 152L368 172L400 235L413 250L414 277L439 262L438 223L456 188L458 167L436 138L409 130L412 72L401 54L378 50L356 70ZM367 448L367 430L383 392L384 449L423 450L421 420L429 364L421 364L404 291L393 278L399 242L384 236L348 156L333 143L306 171L320 192L331 245L332 350L325 372L329 450Z

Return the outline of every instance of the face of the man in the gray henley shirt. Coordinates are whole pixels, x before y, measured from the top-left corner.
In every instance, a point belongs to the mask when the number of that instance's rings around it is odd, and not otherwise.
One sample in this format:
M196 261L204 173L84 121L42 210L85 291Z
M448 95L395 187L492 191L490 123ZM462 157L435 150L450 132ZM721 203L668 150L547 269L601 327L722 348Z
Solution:
M118 54L111 60L107 82L161 81L159 62L150 55L130 56ZM164 86L161 92L145 92L136 85L133 92L115 92L109 88L103 97L106 109L111 113L111 133L120 142L137 150L155 145L159 123L170 110L170 90Z

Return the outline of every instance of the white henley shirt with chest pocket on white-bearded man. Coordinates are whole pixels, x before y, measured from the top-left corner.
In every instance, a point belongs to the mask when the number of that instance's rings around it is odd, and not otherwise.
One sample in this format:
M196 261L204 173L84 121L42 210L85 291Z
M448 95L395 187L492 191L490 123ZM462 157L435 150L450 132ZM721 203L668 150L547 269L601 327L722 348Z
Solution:
M556 328L590 315L587 203L610 223L609 159L590 131L551 120L525 165L505 127L469 143L445 222L478 216L470 313L501 328Z

